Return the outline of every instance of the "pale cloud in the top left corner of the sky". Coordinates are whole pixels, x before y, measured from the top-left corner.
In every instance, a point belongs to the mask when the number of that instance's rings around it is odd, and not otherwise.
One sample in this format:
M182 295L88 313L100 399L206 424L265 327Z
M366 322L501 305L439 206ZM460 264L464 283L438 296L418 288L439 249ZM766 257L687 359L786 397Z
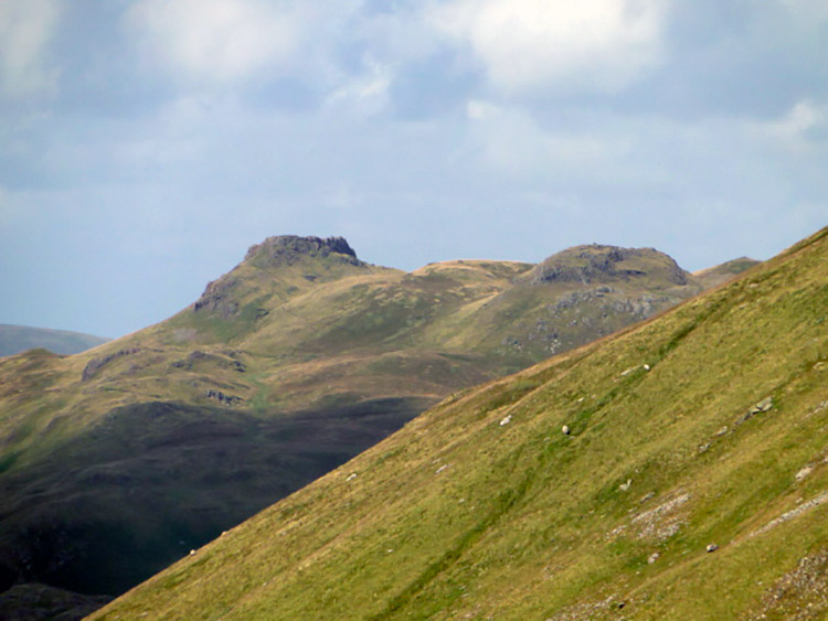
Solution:
M45 53L61 17L55 0L0 2L0 94L19 99L54 89Z

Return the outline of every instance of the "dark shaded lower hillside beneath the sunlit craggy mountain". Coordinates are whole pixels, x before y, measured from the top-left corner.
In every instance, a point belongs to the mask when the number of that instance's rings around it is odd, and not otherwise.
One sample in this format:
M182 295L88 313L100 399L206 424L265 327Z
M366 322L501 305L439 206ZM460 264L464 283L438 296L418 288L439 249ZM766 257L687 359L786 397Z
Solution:
M2 574L123 592L427 405L385 399L264 419L170 403L117 408L2 480Z

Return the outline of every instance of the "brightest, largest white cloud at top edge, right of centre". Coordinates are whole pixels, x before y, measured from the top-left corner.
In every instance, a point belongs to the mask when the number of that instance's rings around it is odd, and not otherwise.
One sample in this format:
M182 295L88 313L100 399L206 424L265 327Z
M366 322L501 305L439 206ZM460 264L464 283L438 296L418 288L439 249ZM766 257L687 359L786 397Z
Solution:
M508 93L614 90L657 65L664 0L450 0L437 29L468 44Z

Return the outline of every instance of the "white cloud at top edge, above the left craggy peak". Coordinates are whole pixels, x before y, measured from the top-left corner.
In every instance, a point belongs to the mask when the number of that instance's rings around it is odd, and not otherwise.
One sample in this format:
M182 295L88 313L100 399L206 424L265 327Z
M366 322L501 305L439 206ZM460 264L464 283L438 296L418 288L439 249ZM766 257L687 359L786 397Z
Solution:
M232 83L295 62L308 14L261 0L140 0L128 13L146 51L185 77Z

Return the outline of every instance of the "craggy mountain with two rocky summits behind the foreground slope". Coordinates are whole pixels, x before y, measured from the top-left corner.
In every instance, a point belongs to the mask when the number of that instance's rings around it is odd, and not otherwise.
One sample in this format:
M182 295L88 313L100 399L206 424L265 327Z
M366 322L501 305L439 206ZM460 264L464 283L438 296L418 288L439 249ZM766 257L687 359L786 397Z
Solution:
M0 588L120 593L439 399L701 289L651 248L407 274L268 238L164 322L0 360Z

